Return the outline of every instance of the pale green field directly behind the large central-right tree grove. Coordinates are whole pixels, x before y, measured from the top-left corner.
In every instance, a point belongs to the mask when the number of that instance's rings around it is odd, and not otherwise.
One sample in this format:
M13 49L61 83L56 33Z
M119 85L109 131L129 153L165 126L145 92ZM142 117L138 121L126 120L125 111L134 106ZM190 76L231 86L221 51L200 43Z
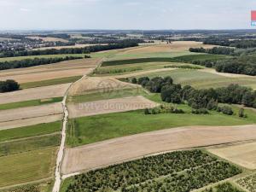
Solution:
M146 75L136 77L140 78L144 76L148 76L148 78L171 76L176 84L190 84L191 86L199 89L210 87L216 88L227 86L229 84L240 84L256 89L255 78L229 78L194 69L177 69L169 72L148 73Z

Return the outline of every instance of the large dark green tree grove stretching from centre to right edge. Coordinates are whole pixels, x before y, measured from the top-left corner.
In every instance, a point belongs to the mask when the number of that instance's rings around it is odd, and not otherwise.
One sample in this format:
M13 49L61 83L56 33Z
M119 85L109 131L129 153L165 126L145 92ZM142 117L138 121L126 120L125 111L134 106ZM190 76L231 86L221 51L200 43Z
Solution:
M207 108L216 110L218 102L243 104L246 107L256 108L256 90L238 84L230 84L227 87L217 89L196 90L190 85L182 87L181 84L173 84L170 76L153 79L148 77L134 78L131 79L131 83L141 84L151 92L160 93L163 102L188 102L189 106L194 109Z

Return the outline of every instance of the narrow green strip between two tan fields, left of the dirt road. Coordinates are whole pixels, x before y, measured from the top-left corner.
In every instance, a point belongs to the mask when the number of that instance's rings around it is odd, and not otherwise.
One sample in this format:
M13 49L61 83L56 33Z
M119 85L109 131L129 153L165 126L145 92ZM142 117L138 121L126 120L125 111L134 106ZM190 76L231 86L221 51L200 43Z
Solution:
M44 99L43 101L38 99L38 100L32 100L32 101L26 101L26 102L12 102L7 104L0 104L0 110L39 106L39 105L49 104L53 102L61 102L62 99L63 99L62 97L55 97L55 98Z

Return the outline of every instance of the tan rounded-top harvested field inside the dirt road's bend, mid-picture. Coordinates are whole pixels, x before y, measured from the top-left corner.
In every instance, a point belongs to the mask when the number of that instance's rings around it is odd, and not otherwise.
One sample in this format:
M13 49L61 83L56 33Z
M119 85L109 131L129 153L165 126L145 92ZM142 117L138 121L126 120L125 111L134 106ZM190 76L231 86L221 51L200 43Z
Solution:
M73 85L69 90L70 96L88 94L97 91L135 88L136 84L128 84L108 77L86 77Z

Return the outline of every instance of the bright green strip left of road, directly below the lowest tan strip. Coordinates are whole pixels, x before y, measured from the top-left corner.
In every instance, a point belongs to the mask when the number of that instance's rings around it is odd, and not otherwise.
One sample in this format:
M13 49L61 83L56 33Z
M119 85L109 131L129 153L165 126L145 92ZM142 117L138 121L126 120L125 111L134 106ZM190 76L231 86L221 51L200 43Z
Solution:
M0 131L0 142L61 131L61 121Z

